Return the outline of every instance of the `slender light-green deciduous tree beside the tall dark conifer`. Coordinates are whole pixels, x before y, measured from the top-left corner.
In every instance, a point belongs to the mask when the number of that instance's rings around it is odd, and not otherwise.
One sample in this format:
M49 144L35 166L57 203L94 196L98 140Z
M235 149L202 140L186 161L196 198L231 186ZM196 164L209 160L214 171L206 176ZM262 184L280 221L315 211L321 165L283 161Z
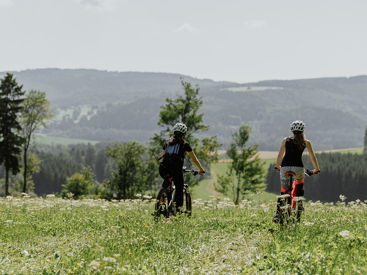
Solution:
M47 122L54 115L50 109L50 102L46 99L46 93L31 90L26 95L22 103L23 110L21 114L21 135L24 138L23 143L23 192L26 192L28 176L28 150L34 133L41 128L47 127Z

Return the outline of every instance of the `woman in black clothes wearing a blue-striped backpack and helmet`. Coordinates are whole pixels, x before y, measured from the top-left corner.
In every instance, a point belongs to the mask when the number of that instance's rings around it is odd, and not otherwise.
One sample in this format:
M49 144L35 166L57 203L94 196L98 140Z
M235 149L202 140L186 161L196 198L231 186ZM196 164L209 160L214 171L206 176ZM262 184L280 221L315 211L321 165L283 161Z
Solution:
M185 157L185 152L188 152L192 161L199 168L199 175L204 173L203 167L201 167L199 160L197 159L194 151L192 150L190 144L184 140L184 137L187 132L187 127L183 123L177 123L173 127L173 136L170 137L164 143L162 148L162 161L159 165L159 175L166 180L167 176L172 178L175 184L175 195L173 198L173 202L176 203L176 209L180 209L183 206L183 159ZM169 151L169 152L168 152ZM166 157L165 157L166 153ZM171 157L171 155L177 157ZM168 183L164 181L163 184L166 184L168 187Z

